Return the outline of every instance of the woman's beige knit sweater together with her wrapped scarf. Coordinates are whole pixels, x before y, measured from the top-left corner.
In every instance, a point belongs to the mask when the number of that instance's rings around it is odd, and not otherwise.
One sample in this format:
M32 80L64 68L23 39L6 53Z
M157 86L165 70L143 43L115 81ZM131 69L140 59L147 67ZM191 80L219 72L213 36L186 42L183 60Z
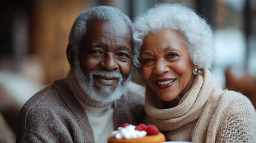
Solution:
M176 107L146 90L146 123L169 141L256 142L255 108L244 95L222 90L209 70L198 74Z

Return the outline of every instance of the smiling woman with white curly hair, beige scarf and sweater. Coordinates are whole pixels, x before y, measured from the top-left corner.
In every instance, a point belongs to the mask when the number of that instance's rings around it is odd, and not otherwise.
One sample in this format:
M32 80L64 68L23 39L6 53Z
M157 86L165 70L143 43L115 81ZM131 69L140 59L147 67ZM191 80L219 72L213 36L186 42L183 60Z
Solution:
M209 69L212 30L184 6L159 4L134 21L134 64L146 82L146 123L169 141L256 142L256 112ZM230 51L231 52L231 51Z

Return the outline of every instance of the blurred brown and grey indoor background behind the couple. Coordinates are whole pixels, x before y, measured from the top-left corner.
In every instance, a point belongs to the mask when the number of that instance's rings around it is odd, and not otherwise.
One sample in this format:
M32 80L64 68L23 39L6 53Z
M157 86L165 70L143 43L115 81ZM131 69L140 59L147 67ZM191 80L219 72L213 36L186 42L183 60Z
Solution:
M234 85L229 82L231 89L236 84L248 87L248 83L256 89L255 82L239 79L256 76L255 0L2 0L0 105L5 94L21 107L40 89L66 76L69 31L82 10L112 5L134 20L147 8L162 2L187 5L211 24L215 48L211 71L223 89L227 88L227 80L235 80Z

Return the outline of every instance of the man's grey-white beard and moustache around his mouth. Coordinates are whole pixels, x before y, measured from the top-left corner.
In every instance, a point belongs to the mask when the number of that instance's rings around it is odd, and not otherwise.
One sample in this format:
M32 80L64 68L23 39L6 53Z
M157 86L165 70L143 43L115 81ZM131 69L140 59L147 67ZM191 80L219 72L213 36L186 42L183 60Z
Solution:
M115 100L118 100L126 91L127 85L131 80L129 75L127 80L123 81L124 78L121 73L116 73L113 71L90 71L89 77L85 76L81 67L79 66L79 61L76 60L75 67L73 68L73 74L78 80L78 84L81 86L81 89L88 95L92 100L100 101L103 103L109 103ZM104 77L116 77L118 78L118 83L115 85L101 85L98 82L95 82L93 77L104 76ZM97 86L99 90L94 87ZM115 91L112 91L115 89Z

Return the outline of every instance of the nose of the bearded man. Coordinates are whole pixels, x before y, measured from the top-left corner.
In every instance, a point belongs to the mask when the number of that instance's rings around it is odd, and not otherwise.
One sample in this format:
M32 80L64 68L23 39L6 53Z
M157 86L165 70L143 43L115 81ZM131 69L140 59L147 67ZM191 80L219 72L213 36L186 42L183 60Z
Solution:
M117 60L114 54L106 54L104 60L100 62L100 67L107 71L116 70L118 69Z

